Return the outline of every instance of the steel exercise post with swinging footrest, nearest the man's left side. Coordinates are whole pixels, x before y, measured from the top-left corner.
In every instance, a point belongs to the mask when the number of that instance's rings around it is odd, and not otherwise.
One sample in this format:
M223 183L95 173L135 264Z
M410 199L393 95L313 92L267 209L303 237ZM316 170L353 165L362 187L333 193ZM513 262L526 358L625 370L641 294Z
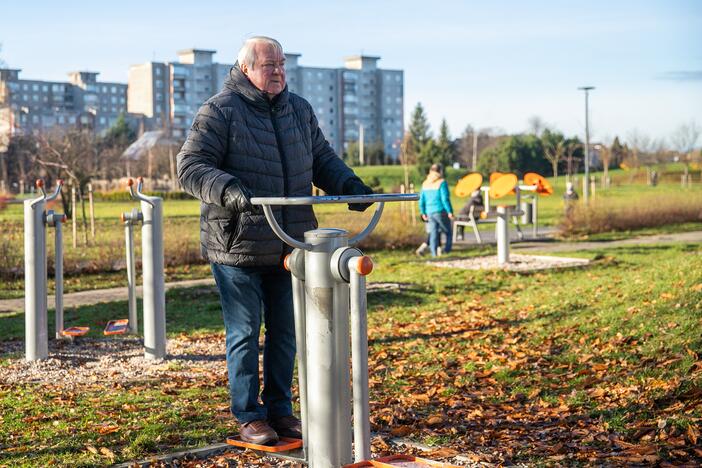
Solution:
M127 252L127 290L129 319L108 323L106 334L139 333L136 307L136 267L134 258L134 226L141 223L141 255L144 310L144 357L166 357L166 287L163 265L163 200L142 192L144 179L129 179L127 189L134 200L141 202L141 211L134 208L122 213Z

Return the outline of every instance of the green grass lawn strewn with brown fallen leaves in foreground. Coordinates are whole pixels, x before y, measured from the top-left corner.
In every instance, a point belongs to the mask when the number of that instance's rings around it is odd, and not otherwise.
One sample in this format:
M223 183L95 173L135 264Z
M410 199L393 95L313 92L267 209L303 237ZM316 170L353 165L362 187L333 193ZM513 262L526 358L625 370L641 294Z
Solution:
M486 252L494 253L456 255ZM405 437L441 447L436 459L702 462L702 248L569 255L593 263L518 274L433 267L403 250L373 255L369 280L402 285L369 293L376 451ZM125 310L83 307L67 320L98 330ZM122 462L234 432L216 294L175 290L167 310L170 346L212 346L215 355L185 369L176 352L153 374L127 381L119 369L74 387L0 381L0 465ZM0 368L27 369L17 341L23 326L22 314L0 316Z

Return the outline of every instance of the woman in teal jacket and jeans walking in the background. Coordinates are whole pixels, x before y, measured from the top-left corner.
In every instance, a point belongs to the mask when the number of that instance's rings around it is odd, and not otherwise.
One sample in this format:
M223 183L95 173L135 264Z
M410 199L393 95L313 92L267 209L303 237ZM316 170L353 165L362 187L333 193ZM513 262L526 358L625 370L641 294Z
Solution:
M446 235L445 253L451 251L451 220L453 208L449 197L448 184L441 175L441 165L432 164L427 178L422 183L419 194L419 212L427 221L429 231L429 248L432 257L437 255L441 233Z

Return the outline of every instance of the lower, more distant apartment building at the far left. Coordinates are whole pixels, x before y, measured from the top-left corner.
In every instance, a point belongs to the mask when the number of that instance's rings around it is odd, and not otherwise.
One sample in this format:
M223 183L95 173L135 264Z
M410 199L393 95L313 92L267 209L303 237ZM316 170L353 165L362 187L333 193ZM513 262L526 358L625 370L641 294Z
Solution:
M20 72L0 69L0 107L13 130L77 126L102 132L127 111L127 85L98 81L97 72L71 72L67 82L21 79Z

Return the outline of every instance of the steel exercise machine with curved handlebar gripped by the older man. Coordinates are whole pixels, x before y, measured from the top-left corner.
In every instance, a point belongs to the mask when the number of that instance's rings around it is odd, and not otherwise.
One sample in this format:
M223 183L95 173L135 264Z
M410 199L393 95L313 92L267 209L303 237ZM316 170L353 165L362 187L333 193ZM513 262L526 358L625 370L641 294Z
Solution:
M229 444L274 452L302 446L302 461L311 468L338 468L354 458L357 463L372 463L366 462L371 453L365 277L373 262L354 246L373 231L386 202L418 198L417 194L386 194L251 199L262 206L273 232L294 248L284 264L292 273L303 440L283 439L271 448L230 437ZM327 203L378 205L368 225L353 237L343 229L320 228L305 232L303 241L280 227L272 208ZM315 397L310 398L311 394Z

